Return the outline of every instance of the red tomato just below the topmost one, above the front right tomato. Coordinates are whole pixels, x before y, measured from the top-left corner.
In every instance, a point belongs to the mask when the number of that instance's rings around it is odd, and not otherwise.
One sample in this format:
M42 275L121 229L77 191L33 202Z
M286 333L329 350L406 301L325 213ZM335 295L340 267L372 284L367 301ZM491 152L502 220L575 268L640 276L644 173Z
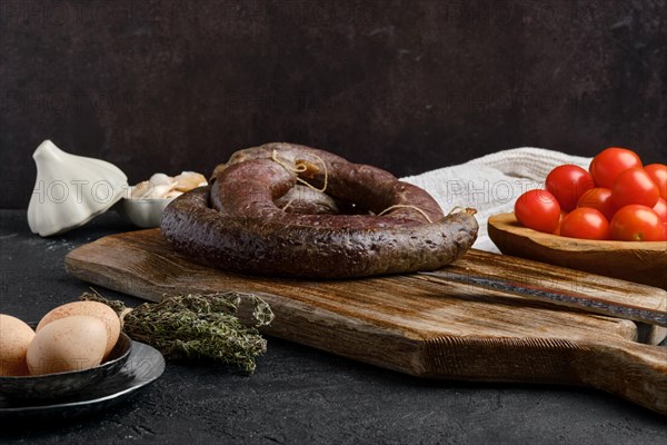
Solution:
M658 186L641 167L621 171L611 186L611 199L618 208L630 204L640 204L653 208L659 197Z

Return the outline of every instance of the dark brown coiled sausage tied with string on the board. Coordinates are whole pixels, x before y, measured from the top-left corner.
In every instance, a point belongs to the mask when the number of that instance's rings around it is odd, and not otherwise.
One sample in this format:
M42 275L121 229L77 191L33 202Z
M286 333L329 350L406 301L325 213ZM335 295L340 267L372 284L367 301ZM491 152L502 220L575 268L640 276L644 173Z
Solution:
M357 214L285 211L276 201L298 181ZM426 191L387 171L289 144L238 151L161 220L170 245L198 263L307 278L437 269L468 250L477 229L469 212L444 216Z

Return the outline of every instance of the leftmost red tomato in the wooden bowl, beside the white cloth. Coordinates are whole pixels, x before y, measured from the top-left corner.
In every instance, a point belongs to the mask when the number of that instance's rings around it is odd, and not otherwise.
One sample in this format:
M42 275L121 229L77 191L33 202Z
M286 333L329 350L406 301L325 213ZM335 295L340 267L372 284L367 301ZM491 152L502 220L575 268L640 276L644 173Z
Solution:
M532 230L554 233L560 219L560 205L547 190L528 190L515 202L515 215Z

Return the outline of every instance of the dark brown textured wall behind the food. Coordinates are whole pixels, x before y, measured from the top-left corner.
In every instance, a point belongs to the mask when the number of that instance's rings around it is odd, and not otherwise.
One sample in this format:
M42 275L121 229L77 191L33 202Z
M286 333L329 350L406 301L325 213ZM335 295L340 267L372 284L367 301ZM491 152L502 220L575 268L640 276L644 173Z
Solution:
M0 207L51 138L130 181L293 141L398 176L495 150L665 161L664 0L1 0Z

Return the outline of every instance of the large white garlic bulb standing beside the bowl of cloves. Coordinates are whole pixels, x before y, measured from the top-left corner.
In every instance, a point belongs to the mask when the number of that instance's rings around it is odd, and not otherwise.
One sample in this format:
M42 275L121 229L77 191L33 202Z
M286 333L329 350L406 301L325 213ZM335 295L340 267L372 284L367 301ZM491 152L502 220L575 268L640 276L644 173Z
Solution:
M56 235L82 226L122 198L127 176L115 165L70 155L44 140L32 155L37 180L28 205L33 234Z

